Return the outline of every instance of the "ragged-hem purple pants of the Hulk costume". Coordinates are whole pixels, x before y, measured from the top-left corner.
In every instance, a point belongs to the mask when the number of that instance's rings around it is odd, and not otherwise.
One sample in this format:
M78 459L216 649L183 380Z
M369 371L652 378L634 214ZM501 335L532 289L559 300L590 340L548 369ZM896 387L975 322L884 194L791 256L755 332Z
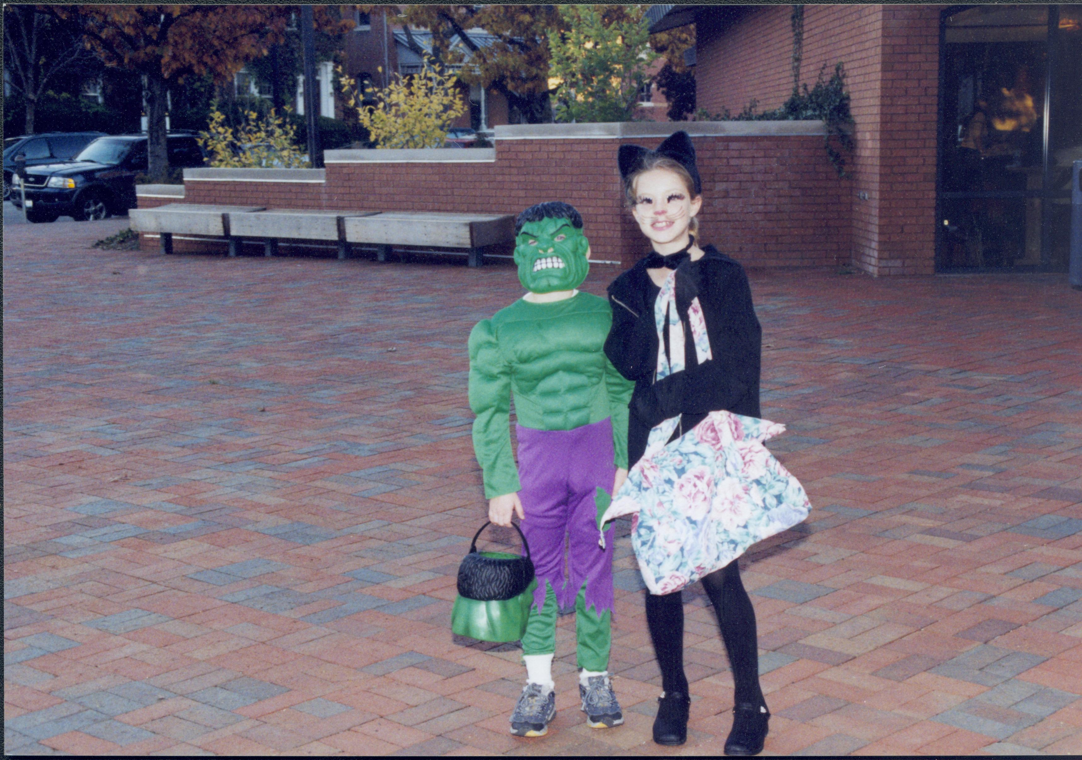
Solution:
M612 423L583 425L573 430L533 430L516 425L518 480L526 519L523 533L529 542L537 572L533 595L538 610L544 604L545 581L562 609L575 605L582 588L585 606L597 614L612 609L612 529L598 546L597 489L612 493L616 464ZM569 536L567 577L564 541Z

